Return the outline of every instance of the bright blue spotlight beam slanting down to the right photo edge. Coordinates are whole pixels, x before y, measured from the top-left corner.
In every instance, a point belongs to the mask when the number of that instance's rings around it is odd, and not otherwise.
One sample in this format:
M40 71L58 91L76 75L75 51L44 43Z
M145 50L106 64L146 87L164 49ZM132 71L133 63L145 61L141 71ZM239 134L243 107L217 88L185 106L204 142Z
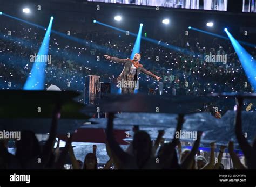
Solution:
M248 81L252 85L254 92L256 88L256 61L250 55L235 38L232 36L228 30L226 30L226 33L228 35L228 38L230 38L230 41L235 49L235 52L238 55L238 58L242 64L242 68L244 68L245 74L248 78Z

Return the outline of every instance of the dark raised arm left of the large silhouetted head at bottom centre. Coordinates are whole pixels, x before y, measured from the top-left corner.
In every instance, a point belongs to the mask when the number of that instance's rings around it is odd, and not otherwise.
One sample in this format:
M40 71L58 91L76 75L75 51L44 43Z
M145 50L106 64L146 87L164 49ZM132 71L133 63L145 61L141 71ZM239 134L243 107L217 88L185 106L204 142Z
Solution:
M114 113L109 113L109 120L107 121L106 138L109 145L113 161L117 165L118 169L122 169L129 164L132 157L125 153L124 150L119 146L113 136L113 119Z

